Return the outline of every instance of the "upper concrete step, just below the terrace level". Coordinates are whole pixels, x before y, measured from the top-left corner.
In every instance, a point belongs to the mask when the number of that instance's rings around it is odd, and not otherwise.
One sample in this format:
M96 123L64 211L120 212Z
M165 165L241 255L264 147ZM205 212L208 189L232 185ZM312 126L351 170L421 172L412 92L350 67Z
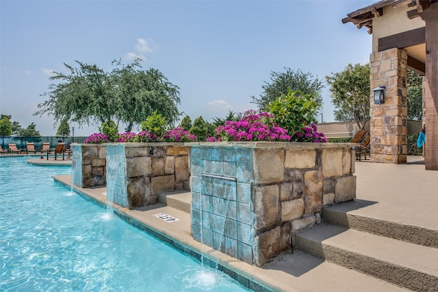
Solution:
M374 235L381 235L401 241L438 248L438 230L383 220L372 216L359 215L358 213L352 212L369 205L370 202L363 200L334 204L324 208L322 220L329 224L348 227Z

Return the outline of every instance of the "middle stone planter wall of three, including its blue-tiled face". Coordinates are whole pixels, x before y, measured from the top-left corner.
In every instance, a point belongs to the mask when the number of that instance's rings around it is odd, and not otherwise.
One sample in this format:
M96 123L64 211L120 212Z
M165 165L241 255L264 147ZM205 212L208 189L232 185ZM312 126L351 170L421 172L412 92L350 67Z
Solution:
M180 143L107 145L107 196L133 209L155 204L163 191L190 190L189 148Z

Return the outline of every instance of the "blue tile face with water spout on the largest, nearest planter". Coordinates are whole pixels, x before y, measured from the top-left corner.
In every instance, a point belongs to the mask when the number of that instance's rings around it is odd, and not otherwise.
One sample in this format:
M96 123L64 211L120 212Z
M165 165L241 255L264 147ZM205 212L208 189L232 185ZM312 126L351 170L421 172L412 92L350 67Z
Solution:
M190 149L193 237L246 263L253 263L252 157L238 146Z

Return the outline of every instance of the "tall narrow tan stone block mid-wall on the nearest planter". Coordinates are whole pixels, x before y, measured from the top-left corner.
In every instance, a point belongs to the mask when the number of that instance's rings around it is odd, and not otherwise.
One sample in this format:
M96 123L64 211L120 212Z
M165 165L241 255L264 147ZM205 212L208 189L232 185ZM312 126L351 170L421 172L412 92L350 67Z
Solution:
M305 213L322 209L322 174L319 170L309 170L304 174Z

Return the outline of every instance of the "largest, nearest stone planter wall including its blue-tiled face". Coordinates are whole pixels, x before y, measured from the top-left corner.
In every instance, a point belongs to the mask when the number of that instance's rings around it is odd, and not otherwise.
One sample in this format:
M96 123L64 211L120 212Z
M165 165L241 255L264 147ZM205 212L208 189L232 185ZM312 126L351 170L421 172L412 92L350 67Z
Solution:
M356 196L352 144L188 145L193 237L246 263L291 250L325 205Z

